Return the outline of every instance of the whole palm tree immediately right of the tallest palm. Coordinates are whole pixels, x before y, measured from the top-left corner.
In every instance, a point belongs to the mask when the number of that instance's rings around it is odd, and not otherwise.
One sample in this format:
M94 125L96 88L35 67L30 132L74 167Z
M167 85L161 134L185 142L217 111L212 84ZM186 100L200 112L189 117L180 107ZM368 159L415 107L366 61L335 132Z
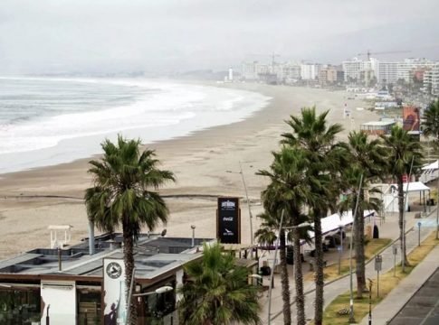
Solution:
M355 203L358 200L358 211L356 220L354 220L354 243L356 255L356 274L357 274L357 297L362 298L366 288L366 257L364 253L365 236L364 236L364 209L368 206L365 202L364 187L367 187L371 181L382 178L384 169L387 166L386 149L375 139L368 141L367 134L364 132L351 132L348 135L348 146L351 164L342 173L343 178L348 183L352 191L352 213L354 213ZM365 185L357 193L360 176L363 175L363 184ZM374 200L372 200L374 202ZM376 205L375 205L376 206ZM376 207L377 208L377 207Z

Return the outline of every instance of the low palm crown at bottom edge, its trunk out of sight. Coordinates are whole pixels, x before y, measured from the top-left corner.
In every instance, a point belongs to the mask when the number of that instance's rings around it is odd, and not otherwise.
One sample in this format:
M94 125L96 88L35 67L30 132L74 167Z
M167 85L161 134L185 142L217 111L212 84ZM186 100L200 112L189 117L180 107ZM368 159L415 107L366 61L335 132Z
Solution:
M259 288L248 283L248 269L236 265L234 255L223 254L219 244L203 247L202 259L184 266L180 324L260 324Z

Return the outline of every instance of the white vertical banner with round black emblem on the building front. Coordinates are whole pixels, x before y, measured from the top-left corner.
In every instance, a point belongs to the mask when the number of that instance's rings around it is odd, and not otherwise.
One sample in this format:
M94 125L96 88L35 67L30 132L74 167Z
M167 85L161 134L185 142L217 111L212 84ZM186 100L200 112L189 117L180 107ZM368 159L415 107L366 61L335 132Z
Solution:
M104 258L104 325L126 323L125 264L121 258Z

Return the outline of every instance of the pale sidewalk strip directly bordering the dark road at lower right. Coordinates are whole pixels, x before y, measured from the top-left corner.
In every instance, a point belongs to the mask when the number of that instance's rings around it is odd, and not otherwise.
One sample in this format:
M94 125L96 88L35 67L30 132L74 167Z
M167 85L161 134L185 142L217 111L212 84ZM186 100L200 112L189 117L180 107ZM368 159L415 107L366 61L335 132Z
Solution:
M434 248L387 297L372 310L372 323L386 325L412 298L417 290L439 267L439 249ZM360 323L368 324L368 316Z

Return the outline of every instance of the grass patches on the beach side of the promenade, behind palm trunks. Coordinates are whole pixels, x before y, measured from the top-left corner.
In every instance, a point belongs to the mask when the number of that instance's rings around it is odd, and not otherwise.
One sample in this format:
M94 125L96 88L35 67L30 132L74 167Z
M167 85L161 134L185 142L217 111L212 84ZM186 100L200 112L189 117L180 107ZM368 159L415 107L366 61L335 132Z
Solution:
M374 257L377 252L382 250L384 247L388 246L392 242L391 239L388 238L376 238L376 239L370 239L365 246L364 253L366 256L366 261ZM355 260L355 257L353 258ZM352 261L352 265L355 268L355 261ZM340 265L340 274L339 274L339 263L336 263L334 265L329 265L328 267L325 267L324 269L324 278L326 281L332 281L340 276L343 276L345 274L349 273L349 259L343 258L341 260ZM305 274L304 280L305 281L314 281L314 272L309 272Z

